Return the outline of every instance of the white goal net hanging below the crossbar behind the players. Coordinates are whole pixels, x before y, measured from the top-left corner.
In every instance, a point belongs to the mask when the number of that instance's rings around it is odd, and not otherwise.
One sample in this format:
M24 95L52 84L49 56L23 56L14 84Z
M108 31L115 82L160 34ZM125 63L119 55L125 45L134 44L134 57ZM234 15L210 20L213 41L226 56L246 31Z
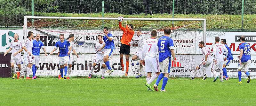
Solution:
M32 20L34 22L32 26ZM157 39L164 35L164 28L170 27L172 33L170 37L174 41L175 55L177 64L172 63L170 77L190 77L194 72L196 65L202 61L201 49L198 47L200 41L205 41L205 19L175 19L175 18L124 18L128 24L133 24L135 34L136 30L142 30L145 40L150 38L151 30L157 30ZM174 21L174 27L172 27ZM108 27L108 32L113 35L115 50L111 56L110 67L114 69L112 74L105 74L106 77L122 77L125 74L121 69L119 48L123 31L118 27L117 18L90 18L90 17L25 17L24 34L27 38L28 31L34 32L34 35L40 34L40 40L49 54L54 44L59 41L59 35L64 34L67 39L69 34L74 34L74 48L79 55L77 58L72 52L72 69L71 76L88 76L95 58L95 44L98 41L97 36L103 36L103 28ZM122 26L125 27L124 22ZM129 56L128 77L137 76L140 69L139 61L131 62L132 56L139 50L138 43L131 45ZM60 73L60 65L57 49L53 55L44 56L41 49L39 68L36 76L52 77ZM125 63L125 56L123 58ZM132 66L132 63L135 65ZM145 67L143 66L143 69ZM93 71L93 77L101 77L102 65L97 64ZM143 71L145 72L145 70ZM32 71L31 73L32 74ZM145 73L143 73L145 75ZM201 77L200 71L196 76Z

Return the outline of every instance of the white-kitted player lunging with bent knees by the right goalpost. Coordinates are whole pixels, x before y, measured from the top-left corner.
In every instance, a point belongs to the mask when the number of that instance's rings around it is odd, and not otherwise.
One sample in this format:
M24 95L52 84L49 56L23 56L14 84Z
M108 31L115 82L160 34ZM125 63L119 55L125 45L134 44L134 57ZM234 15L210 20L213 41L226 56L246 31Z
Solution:
M194 79L194 77L197 74L198 70L201 69L203 71L203 73L204 73L203 80L205 80L207 78L205 69L211 65L211 63L212 63L212 55L210 54L209 48L204 46L204 41L199 42L198 46L202 50L203 60L202 60L202 62L200 62L196 66L196 70L192 74L191 79Z

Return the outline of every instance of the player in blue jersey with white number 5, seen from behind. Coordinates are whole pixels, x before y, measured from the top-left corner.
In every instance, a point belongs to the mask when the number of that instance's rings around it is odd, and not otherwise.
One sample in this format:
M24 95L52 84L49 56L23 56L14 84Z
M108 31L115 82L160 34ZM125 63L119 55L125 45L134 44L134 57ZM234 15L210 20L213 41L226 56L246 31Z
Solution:
M168 81L169 73L171 70L171 57L173 58L173 63L176 64L175 54L174 54L174 44L172 38L169 37L171 34L171 29L169 27L164 28L164 36L158 39L158 50L159 50L159 64L162 73L158 76L154 88L158 91L158 83L163 79L163 85L160 91L165 91L165 85Z

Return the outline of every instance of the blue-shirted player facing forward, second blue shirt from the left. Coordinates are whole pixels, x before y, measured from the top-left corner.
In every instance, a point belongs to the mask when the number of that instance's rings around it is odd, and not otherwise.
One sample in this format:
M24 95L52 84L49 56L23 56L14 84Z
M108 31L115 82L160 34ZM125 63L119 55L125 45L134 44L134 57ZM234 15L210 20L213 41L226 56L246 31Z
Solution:
M64 40L64 34L60 34L60 41L55 43L54 49L51 51L50 54L52 55L53 52L55 50L57 50L57 48L59 48L59 50L60 50L60 55L59 55L60 74L61 74L60 79L66 79L67 78L66 75L65 75L65 77L63 76L63 68L64 68L65 73L67 74L69 54L72 49L72 46L70 45L70 43L67 40Z

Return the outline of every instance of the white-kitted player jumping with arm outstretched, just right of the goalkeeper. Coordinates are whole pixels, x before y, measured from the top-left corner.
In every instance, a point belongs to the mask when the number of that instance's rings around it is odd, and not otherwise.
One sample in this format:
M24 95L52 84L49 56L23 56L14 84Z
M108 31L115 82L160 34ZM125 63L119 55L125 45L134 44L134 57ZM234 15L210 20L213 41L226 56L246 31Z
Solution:
M136 39L132 39L132 41L129 42L128 44L132 44L135 42L138 43L139 50L135 53L135 55L132 56L132 61L140 60L140 72L139 72L138 76L136 76L136 78L139 78L142 75L145 75L145 72L143 71L142 55L141 55L141 51L142 51L143 44L144 44L145 40L144 40L143 34L141 34L141 30L137 30ZM132 61L131 61L131 63L132 63ZM134 63L132 63L132 66L134 66Z

